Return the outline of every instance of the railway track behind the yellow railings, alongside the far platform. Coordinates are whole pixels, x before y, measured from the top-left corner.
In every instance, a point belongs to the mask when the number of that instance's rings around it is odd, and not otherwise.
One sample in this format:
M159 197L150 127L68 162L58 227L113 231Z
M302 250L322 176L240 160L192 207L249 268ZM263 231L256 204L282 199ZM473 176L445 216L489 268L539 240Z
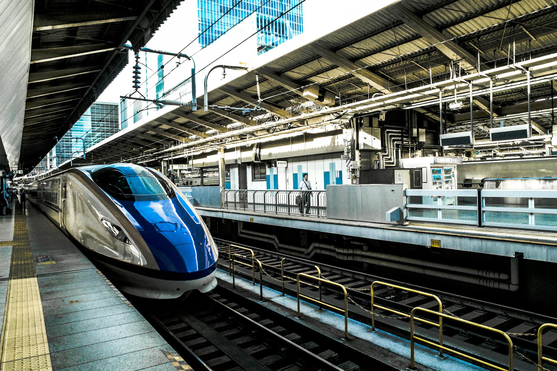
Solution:
M229 270L229 262L227 261L228 245L233 242L219 239L216 239L216 241L220 251L219 268ZM282 290L280 265L283 258L285 258L283 265L284 275L287 277L284 280L286 294L296 296L296 284L293 280L297 274L317 275L316 263L314 262L258 249L253 246L241 244L240 246L248 247L255 252L255 258L260 260L263 266L263 285L270 288ZM245 250L232 248L231 251L232 253L246 255ZM350 318L372 324L372 317L374 317L375 327L408 339L409 320L404 315L400 315L400 313L410 313L416 306L434 311L438 310L438 303L431 296L415 293L411 290L433 294L441 300L443 313L455 318L499 329L508 334L514 344L513 352L515 353L515 369L517 370L538 370L536 365L538 344L536 331L541 324L557 323L556 318L393 280L388 280L387 285L374 285L374 303L384 308L395 310L399 314L389 310L375 309L374 315L372 315L370 311L370 285L374 281L385 281L384 279L330 265L318 265L321 277L344 285L348 290ZM246 268L245 266L237 265L235 271L237 275L252 279L251 267ZM258 281L258 273L256 281ZM399 289L393 286L403 286L403 288L411 290ZM316 290L315 288L310 289L312 291ZM322 295L323 301L326 303L342 306L339 290L324 286L322 288ZM505 339L497 338L475 328L462 327L455 322L451 320L444 321L444 344L459 349L466 354L480 355L480 357L505 368L509 360L509 348ZM416 333L429 339L435 339L438 337L438 328L434 328L427 323L418 323ZM545 357L557 358L556 331L544 332L543 346ZM544 368L550 371L557 370L557 367L549 363L544 363Z

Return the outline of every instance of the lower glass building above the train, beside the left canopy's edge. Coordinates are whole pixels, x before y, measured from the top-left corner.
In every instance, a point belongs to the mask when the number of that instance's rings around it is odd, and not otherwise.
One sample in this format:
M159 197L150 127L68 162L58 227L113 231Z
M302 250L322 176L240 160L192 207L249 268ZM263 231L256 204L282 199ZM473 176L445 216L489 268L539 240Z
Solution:
M83 156L83 145L88 149L120 130L118 103L93 103L77 120L58 144L58 163Z

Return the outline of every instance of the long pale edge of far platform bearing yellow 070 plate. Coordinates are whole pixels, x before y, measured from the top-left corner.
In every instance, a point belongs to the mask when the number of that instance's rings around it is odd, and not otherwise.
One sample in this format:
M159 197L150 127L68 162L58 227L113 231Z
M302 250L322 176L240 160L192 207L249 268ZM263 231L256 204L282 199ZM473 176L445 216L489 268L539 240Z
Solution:
M394 225L202 206L196 210L203 216L246 222L250 229L256 228L251 223L257 223L497 256L522 253L524 259L557 262L557 233L553 232L422 222Z

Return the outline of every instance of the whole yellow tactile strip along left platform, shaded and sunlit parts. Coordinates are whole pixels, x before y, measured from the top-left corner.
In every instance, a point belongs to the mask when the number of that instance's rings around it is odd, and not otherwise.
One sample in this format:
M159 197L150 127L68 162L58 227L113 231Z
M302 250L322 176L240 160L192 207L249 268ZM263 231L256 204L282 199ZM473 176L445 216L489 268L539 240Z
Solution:
M0 337L0 371L52 370L45 316L25 219L16 208L12 262Z

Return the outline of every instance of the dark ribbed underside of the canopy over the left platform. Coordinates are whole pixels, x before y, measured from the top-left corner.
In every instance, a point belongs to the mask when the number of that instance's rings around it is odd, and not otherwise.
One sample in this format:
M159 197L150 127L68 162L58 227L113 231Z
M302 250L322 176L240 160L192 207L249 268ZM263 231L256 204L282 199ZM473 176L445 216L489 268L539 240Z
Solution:
M18 11L15 4L19 1L0 1L11 5L13 14ZM24 64L28 82L19 156L23 169L31 170L47 155L56 144L54 137L61 138L128 63L128 52L121 51L123 44L143 47L179 3L35 1L31 50L24 51L30 60ZM5 136L4 145L17 140L9 133Z

